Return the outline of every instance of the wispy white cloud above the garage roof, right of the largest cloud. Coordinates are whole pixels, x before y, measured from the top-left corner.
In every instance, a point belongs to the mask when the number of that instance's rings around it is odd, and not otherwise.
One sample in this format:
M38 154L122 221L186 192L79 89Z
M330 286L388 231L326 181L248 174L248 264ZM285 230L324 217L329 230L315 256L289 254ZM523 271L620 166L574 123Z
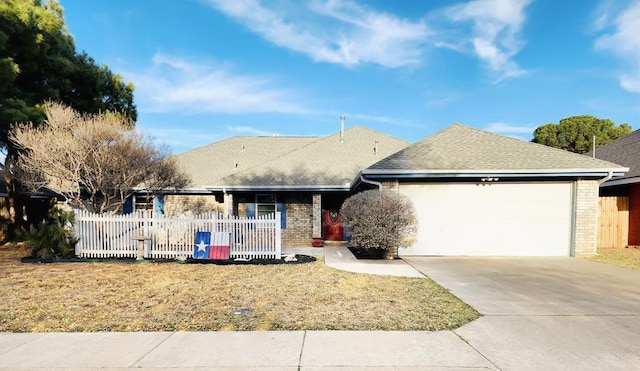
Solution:
M524 47L520 31L526 20L524 10L531 0L474 0L448 7L444 16L453 22L471 22L464 41L442 40L436 45L469 51L486 63L496 82L527 73L513 57Z

